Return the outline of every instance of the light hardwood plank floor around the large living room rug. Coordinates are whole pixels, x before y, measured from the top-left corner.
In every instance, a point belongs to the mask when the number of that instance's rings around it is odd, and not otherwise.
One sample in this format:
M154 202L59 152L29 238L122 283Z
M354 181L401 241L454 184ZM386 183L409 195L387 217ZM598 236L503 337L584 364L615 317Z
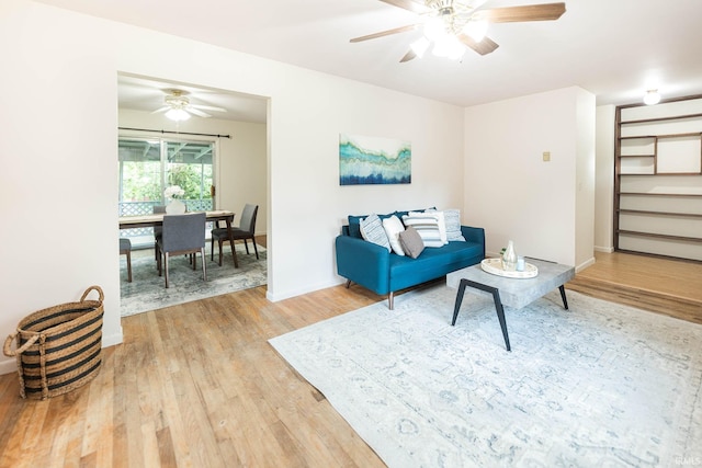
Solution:
M618 256L598 255L598 269L573 283L641 277L699 298L702 265L652 267L646 258ZM631 271L618 270L626 264ZM0 376L0 465L384 466L268 344L378 300L360 286L338 286L272 304L258 287L126 317L124 343L103 351L100 374L78 390L22 400L16 374Z

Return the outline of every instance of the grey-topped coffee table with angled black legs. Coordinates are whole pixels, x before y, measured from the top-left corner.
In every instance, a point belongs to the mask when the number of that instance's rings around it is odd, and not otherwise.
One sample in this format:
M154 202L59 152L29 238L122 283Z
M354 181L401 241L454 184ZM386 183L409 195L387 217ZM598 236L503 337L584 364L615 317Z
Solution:
M498 276L483 271L480 264L449 273L446 275L446 286L458 289L451 324L455 326L456 323L466 287L471 288L468 290L472 294L492 297L507 351L511 351L511 349L509 335L507 334L503 306L521 309L557 287L561 290L563 307L567 310L568 301L566 300L564 285L575 277L575 269L531 258L526 258L526 261L539 269L536 276L531 278Z

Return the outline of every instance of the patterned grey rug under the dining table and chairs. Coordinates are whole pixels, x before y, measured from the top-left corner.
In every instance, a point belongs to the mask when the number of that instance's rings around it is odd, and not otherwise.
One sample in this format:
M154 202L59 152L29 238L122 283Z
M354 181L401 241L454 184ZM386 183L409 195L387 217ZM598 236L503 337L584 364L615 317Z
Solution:
M158 275L154 250L135 251L132 258L132 283L126 281L125 255L120 255L121 306L122 317L176 306L205 297L219 296L241 289L264 285L268 281L267 250L258 247L259 260L249 244L247 255L244 244L236 244L239 267L234 267L229 248L225 248L222 266L215 260L210 261L207 246L207 281L202 279L202 264L197 255L197 270L193 271L185 255L169 260L169 288L165 278Z

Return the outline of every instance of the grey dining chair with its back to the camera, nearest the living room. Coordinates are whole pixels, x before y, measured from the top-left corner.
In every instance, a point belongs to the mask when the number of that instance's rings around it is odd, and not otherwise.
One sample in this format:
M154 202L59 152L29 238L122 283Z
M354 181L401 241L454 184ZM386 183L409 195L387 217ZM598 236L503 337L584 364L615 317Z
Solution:
M205 266L205 214L192 213L163 216L163 231L156 241L156 254L158 275L161 276L162 270L166 270L166 287L169 287L168 260L170 256L192 254L192 265L193 270L195 270L197 252L200 252L202 260L202 277L207 281L207 269ZM161 256L163 258L162 262Z

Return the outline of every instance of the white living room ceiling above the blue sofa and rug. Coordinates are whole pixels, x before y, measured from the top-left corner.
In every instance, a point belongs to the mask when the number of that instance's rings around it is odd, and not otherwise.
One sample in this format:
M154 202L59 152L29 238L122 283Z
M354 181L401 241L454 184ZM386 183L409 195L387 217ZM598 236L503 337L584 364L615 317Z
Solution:
M664 99L702 94L700 0L565 0L557 21L492 24L492 54L468 50L461 62L428 54L405 64L419 31L349 42L417 22L378 0L41 1L460 106L571 85L598 105L639 102L652 88ZM544 2L488 0L485 8ZM202 103L228 106L206 91ZM140 105L136 91L128 99L125 91L127 101Z

